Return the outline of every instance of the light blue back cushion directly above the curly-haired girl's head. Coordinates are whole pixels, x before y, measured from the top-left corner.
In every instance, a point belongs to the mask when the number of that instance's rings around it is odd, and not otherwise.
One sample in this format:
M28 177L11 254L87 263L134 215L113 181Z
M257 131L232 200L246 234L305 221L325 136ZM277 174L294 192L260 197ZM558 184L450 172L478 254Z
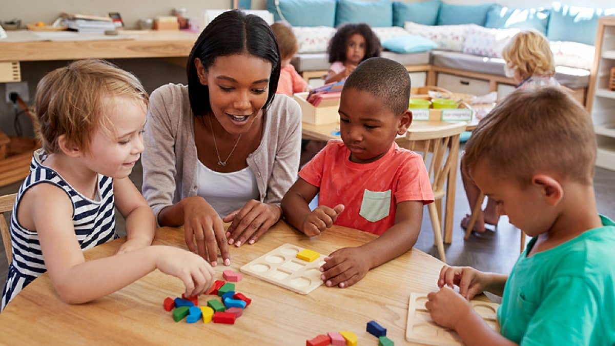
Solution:
M391 5L391 0L338 0L335 26L345 23L367 23L370 26L392 26L393 7Z

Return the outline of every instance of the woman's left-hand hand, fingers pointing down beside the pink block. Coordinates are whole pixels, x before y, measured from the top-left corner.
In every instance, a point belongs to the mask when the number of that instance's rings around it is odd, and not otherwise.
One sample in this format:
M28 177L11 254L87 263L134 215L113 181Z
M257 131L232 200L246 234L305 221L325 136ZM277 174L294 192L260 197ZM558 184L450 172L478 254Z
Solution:
M204 259L208 258L209 263L215 267L218 265L216 260L220 248L224 265L231 265L224 225L218 213L199 196L185 198L183 203L185 204L184 231L188 249Z

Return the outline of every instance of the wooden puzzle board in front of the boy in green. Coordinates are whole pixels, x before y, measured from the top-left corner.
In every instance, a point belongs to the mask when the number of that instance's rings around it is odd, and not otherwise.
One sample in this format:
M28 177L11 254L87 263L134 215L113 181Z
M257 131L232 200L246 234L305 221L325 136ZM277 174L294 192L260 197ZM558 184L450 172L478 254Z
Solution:
M425 308L426 302L427 294L410 293L406 340L425 345L463 345L457 332L435 324ZM470 304L491 328L499 332L496 315L499 304L479 300L470 300Z

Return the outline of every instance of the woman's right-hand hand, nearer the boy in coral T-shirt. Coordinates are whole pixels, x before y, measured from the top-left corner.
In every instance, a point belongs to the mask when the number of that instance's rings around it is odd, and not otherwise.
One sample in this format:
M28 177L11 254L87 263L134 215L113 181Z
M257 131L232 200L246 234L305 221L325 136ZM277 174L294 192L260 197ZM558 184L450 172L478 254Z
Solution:
M282 217L282 208L250 199L241 209L224 217L224 222L231 222L226 230L229 244L239 247L248 242L254 244L266 231Z

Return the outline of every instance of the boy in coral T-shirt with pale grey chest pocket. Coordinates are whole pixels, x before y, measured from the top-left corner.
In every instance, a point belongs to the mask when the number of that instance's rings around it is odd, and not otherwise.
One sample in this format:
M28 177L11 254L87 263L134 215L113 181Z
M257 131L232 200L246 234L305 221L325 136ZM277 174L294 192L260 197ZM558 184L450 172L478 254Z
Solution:
M360 63L341 93L342 140L330 140L282 199L288 222L308 236L333 224L379 235L325 258L322 280L329 287L357 283L416 243L423 206L434 195L421 156L395 143L412 122L408 99L410 77L400 63L380 57ZM319 206L310 211L317 193Z

